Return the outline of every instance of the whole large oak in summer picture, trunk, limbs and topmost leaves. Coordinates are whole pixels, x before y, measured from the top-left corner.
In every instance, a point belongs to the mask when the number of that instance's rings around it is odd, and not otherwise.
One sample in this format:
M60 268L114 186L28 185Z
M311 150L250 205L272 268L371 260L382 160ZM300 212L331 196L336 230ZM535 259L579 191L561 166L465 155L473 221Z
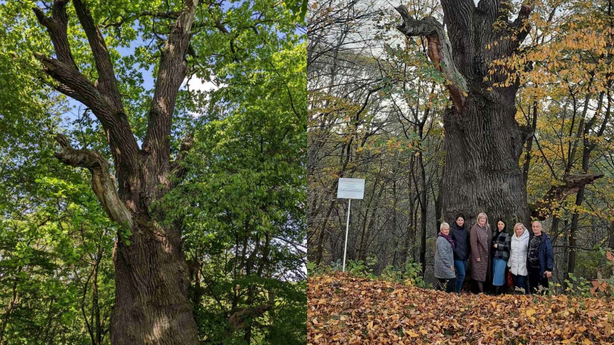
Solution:
M92 13L92 7L99 10L101 4L74 0L72 7L69 5L69 0L55 0L51 5L44 4L46 10L34 7L37 21L46 29L54 48L54 55L35 55L50 77L45 82L85 104L98 119L108 143L111 161L95 150L72 147L71 139L63 134L55 138L61 147L56 158L91 172L93 191L109 218L121 228L113 251L115 307L109 331L111 342L114 345L198 344L198 329L188 299L193 272L182 250L183 218L166 217L166 209L160 202L187 176L183 160L194 144L193 135L188 134L177 145L178 150L173 149L171 139L176 134L173 120L179 89L188 70L206 70L211 56L222 56L228 63L241 61L249 49L239 39L245 31L259 39L250 43L256 47L252 52L266 51L268 40L275 39L276 34L267 36L262 31L274 31L272 28L279 17L267 17L267 13L274 12L271 9L275 6L255 4L253 13L251 7L243 6L245 11L234 12L237 18L223 18L219 15L222 2L199 4L198 0L186 0L173 6L167 2L166 12L133 9L119 18L111 18L111 21L119 20L115 23L107 22L109 18L101 23ZM294 2L289 7L292 6L296 7ZM246 17L240 18L244 13ZM157 77L139 145L116 76L117 58L107 47L101 29L130 31L135 20L147 18L155 18L150 35L152 41L158 42L158 49L154 47L149 58L155 60ZM75 57L76 47L71 46L75 42L74 29L79 30L77 25L87 37L85 42L91 50L93 66L88 72ZM207 30L217 31L220 36L205 34L206 37L195 42L194 37ZM215 45L220 41L227 42L227 50L211 52L214 49L204 43ZM196 56L207 62L191 66L190 57ZM200 77L207 78L206 73L201 71ZM169 218L172 218L170 222ZM230 317L231 326L240 328L246 316L255 317L249 310L235 312Z

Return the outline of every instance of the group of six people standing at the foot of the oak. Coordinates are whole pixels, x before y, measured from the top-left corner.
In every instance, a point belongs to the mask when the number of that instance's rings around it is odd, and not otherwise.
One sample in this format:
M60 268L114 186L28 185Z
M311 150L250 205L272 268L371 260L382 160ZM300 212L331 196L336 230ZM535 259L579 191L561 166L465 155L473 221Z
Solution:
M484 293L487 277L494 293L501 293L506 267L515 291L529 294L548 289L554 255L542 223L532 222L532 231L523 223L516 223L510 234L505 221L499 219L491 231L488 216L480 213L468 230L465 215L457 214L451 227L444 222L439 230L435 242L435 277L446 292L461 293L469 265L480 293Z

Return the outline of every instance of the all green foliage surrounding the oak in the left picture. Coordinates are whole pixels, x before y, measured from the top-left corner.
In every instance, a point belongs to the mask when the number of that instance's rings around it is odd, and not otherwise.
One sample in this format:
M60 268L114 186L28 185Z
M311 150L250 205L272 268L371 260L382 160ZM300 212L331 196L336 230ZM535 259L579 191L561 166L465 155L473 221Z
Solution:
M198 264L189 294L201 339L244 344L249 328L251 344L305 343L306 52L295 30L306 1L223 5L196 11L188 79L219 88L179 90L169 140L176 155L185 134L195 135L184 162L190 172L152 212L183 220L184 255ZM8 320L0 343L91 344L95 310L103 331L112 316L113 246L130 245L131 233L109 220L90 172L55 158L58 132L73 147L111 154L91 112L41 83L33 53L53 48L32 6L0 2L0 318ZM140 15L181 10L182 2L92 0L87 7L102 25L126 115L142 141L153 94L144 74L157 75L160 38L173 20ZM72 4L67 11L72 55L93 82L85 33ZM233 312L263 305L268 311L230 330Z

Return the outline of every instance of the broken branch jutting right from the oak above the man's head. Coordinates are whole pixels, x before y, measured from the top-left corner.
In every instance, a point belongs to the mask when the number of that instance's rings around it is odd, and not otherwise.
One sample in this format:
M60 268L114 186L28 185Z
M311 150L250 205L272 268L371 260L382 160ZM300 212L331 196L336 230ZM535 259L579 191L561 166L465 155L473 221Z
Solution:
M578 189L594 180L604 177L604 174L570 175L563 179L562 185L552 186L546 195L535 204L530 204L531 217L538 220L546 219L552 211L557 209L567 196L577 193Z

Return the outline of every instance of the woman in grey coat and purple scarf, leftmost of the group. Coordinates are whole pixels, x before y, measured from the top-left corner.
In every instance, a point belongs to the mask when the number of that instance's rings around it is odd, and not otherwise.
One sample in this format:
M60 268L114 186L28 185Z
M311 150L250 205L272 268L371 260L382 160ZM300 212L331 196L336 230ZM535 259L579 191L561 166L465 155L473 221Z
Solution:
M439 236L435 242L435 278L439 279L439 287L446 292L456 290L456 272L454 272L454 240L450 236L448 223L441 223ZM447 284L446 284L447 283Z

